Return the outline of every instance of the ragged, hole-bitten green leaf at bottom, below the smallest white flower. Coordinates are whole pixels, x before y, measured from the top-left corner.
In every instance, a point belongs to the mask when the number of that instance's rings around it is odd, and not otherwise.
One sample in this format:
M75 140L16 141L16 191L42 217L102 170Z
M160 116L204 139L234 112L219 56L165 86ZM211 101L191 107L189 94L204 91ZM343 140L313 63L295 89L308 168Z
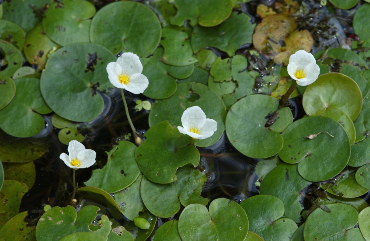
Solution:
M77 214L72 206L49 209L37 222L37 241L58 241L76 232L91 232L89 225L93 225L99 210L96 206L85 206Z

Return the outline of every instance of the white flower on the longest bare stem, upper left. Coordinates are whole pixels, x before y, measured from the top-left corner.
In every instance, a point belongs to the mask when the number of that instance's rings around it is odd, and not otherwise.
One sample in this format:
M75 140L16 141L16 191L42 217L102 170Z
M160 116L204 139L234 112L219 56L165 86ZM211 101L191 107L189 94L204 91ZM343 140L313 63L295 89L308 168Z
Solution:
M142 64L134 53L123 53L116 62L107 65L109 81L117 88L133 94L143 93L148 87L148 78L141 74Z

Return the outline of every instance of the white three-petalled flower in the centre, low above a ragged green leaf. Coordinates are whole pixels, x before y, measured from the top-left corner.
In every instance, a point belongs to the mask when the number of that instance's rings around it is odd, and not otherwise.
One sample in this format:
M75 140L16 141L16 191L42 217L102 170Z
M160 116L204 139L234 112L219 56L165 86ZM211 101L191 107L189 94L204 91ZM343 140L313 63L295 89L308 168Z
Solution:
M199 106L187 108L181 117L182 126L177 128L182 134L194 139L203 140L213 135L217 130L217 122L206 118L206 114Z

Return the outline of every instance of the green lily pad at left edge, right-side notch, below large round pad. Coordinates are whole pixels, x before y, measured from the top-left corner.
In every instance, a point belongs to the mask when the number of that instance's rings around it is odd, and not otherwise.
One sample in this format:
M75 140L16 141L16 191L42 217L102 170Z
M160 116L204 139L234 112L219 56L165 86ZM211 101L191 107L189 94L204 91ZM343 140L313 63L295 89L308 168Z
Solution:
M16 95L0 111L0 128L16 137L30 137L44 127L44 118L40 114L50 113L40 93L40 80L37 78L19 78L16 83Z

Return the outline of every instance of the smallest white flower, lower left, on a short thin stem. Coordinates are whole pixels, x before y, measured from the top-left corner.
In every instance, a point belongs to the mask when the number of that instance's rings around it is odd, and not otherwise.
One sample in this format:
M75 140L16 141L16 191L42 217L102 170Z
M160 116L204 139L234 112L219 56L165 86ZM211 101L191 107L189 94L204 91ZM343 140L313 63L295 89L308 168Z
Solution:
M59 158L70 168L86 168L95 163L95 151L86 149L76 140L70 141L68 144L68 154L62 153Z

